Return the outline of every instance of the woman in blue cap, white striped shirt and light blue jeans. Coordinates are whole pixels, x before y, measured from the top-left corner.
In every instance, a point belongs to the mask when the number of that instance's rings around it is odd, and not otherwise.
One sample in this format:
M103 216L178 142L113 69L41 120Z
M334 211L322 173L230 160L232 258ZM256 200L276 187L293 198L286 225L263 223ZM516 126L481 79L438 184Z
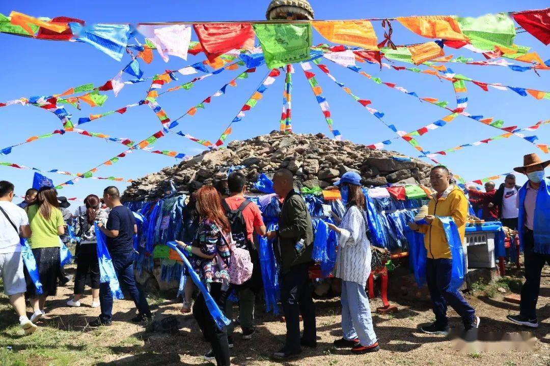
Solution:
M342 279L342 339L336 347L350 347L353 353L376 352L378 341L372 325L371 308L365 293L371 273L371 243L368 240L365 195L361 176L347 172L334 183L340 188L346 211L339 227L328 224L338 234L334 277Z

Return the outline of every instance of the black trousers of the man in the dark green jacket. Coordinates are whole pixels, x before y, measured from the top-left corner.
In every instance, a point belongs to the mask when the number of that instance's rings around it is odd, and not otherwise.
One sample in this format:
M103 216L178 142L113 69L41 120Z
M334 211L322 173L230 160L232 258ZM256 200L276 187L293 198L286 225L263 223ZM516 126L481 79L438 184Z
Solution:
M311 298L311 285L307 277L310 263L297 264L284 273L281 278L281 303L287 320L287 341L285 350L300 351L300 314L304 320L304 342L317 341L315 326L315 306Z

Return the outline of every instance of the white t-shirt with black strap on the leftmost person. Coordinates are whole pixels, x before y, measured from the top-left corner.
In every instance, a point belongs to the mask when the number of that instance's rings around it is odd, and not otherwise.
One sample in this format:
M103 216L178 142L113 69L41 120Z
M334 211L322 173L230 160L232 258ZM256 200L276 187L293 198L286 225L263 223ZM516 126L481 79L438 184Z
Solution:
M8 219L0 211L0 253L19 252L21 251L19 228L29 224L27 213L12 202L0 201L0 206L8 214L9 219L12 220L15 227L17 227L16 233L12 224L9 223Z

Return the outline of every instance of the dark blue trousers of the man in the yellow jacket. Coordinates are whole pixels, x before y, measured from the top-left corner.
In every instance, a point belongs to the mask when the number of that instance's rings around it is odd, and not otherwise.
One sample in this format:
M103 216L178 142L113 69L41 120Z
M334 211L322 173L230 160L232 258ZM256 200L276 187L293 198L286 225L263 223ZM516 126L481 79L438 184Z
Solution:
M458 290L450 291L451 277L450 259L426 259L426 282L432 298L433 313L436 315L436 323L448 325L447 305L450 305L462 318L465 325L475 320L475 310Z

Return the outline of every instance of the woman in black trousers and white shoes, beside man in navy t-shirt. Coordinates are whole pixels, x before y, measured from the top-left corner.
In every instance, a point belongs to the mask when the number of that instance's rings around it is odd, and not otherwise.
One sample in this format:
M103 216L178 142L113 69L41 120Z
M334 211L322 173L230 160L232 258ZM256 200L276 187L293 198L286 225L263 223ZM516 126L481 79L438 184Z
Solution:
M76 218L75 233L80 238L78 256L76 258L76 274L74 277L74 296L67 301L69 306L80 306L80 298L84 295L87 274L90 273L92 285L92 307L100 306L100 263L97 259L97 238L94 222L105 225L109 215L101 208L100 198L90 194L84 200L86 211Z

